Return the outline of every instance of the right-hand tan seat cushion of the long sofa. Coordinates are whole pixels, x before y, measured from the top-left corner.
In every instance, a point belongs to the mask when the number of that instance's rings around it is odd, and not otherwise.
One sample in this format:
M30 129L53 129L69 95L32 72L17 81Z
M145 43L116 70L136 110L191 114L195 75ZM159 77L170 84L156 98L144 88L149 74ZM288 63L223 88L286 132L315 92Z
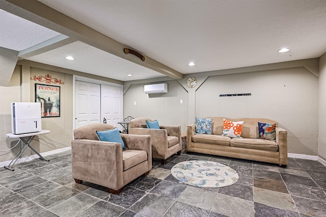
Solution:
M238 139L233 138L230 141L231 147L251 148L266 151L278 151L279 146L276 142L264 139Z

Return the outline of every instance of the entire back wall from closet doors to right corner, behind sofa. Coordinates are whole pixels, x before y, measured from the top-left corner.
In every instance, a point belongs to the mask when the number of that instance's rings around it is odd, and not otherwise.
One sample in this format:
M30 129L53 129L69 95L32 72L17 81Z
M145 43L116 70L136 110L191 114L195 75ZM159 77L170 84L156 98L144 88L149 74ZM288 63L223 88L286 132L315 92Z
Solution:
M196 87L186 87L188 77L197 79ZM165 81L160 78L159 82ZM180 125L183 132L196 116L270 118L288 131L289 153L318 154L318 59L196 73L167 82L169 94L155 98L144 94L144 84L155 79L125 82L124 116L158 119ZM252 96L219 97L246 93ZM187 108L178 109L180 99L185 98Z

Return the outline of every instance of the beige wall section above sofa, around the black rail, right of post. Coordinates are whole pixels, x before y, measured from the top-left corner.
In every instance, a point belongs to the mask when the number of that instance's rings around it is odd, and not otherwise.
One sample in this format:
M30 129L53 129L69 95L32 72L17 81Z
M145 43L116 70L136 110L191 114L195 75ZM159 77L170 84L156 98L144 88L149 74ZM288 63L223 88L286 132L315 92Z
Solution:
M251 96L219 97L223 94ZM288 152L318 153L318 78L305 68L210 76L196 91L196 116L263 117L288 131Z

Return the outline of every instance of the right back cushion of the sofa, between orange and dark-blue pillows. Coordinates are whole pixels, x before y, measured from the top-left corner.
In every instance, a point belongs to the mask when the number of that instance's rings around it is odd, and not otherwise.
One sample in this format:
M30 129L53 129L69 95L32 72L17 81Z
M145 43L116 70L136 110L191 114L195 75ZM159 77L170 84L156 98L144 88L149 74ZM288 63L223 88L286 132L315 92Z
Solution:
M258 122L276 123L276 127L278 127L278 122L267 118L235 118L232 119L232 121L244 121L242 124L241 137L250 139L259 138Z

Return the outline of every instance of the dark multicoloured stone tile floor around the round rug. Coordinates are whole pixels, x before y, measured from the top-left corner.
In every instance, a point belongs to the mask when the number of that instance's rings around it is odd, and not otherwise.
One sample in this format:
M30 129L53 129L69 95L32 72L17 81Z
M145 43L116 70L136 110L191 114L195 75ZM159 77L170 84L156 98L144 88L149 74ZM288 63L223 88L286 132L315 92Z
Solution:
M326 167L289 158L287 168L205 154L153 160L147 177L119 195L71 177L71 152L0 169L0 216L326 216ZM239 173L230 187L204 189L179 183L170 172L178 162L209 160Z

